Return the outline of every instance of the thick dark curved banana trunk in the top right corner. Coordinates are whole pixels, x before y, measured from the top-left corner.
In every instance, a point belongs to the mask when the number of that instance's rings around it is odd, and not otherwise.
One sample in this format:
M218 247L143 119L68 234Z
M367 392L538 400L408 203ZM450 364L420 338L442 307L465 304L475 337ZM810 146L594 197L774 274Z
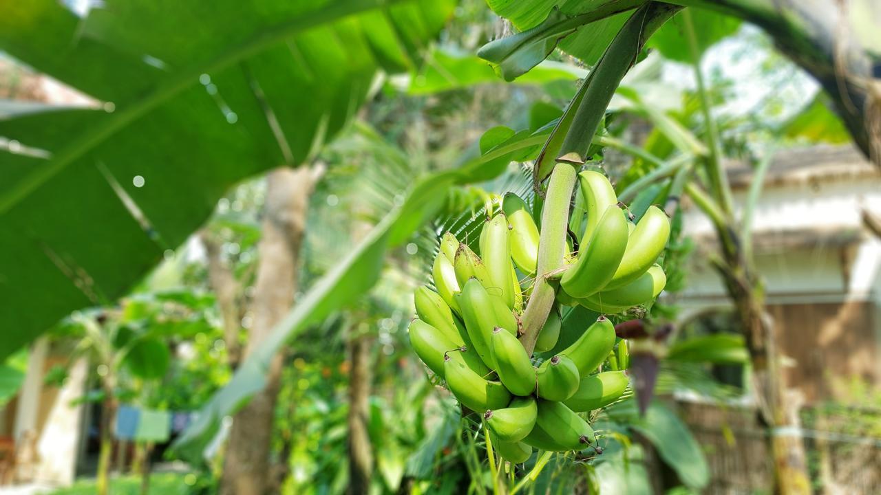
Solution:
M881 166L881 5L876 0L674 0L761 27L835 102L856 144Z

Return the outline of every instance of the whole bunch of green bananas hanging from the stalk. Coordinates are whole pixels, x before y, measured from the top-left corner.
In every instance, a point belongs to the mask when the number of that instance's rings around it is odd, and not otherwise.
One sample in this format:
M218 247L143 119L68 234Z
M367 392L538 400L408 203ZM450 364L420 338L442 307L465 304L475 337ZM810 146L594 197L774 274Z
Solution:
M663 211L650 207L633 225L603 174L579 175L586 211L569 225L581 230L580 253L569 255L557 302L615 314L655 299L666 283L655 262L670 234ZM582 228L583 227L583 228ZM616 344L611 321L600 316L583 334L543 362L530 358L522 334L524 291L536 277L538 227L521 198L508 194L480 233L480 255L452 233L441 238L433 263L437 292L415 293L410 340L419 358L446 381L469 410L483 414L492 445L509 462L541 450L581 450L595 442L578 413L615 402L628 385L625 371L602 371ZM555 305L556 306L556 305ZM537 336L536 351L556 347L559 307Z

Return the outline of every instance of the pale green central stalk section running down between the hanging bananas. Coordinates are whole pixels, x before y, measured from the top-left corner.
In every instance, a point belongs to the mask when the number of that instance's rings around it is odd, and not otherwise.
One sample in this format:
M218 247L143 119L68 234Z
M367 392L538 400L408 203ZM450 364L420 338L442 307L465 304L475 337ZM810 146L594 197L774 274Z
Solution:
M538 332L544 327L553 307L554 288L548 282L547 275L562 266L566 255L569 200L572 198L576 177L574 166L558 163L553 167L551 180L548 182L538 240L537 275L522 317L523 335L520 342L529 355L535 349Z

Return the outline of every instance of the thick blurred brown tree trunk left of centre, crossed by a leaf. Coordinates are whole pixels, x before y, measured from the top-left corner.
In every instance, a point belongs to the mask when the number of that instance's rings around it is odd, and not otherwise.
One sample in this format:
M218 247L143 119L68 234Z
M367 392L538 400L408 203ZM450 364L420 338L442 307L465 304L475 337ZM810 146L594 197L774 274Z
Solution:
M258 247L260 267L251 307L254 324L248 330L246 358L270 335L292 305L308 197L314 181L308 167L279 168L268 176L263 237ZM266 372L266 387L233 418L221 480L223 495L263 495L269 491L272 419L283 359L283 352L272 359Z

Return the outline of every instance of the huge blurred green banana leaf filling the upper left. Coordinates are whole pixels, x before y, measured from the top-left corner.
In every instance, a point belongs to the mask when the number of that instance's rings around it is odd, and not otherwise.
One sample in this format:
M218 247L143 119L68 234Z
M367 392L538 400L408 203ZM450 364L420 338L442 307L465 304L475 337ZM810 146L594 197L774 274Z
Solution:
M307 160L453 2L72 4L0 3L0 49L96 101L0 104L0 358L120 296L235 182Z

